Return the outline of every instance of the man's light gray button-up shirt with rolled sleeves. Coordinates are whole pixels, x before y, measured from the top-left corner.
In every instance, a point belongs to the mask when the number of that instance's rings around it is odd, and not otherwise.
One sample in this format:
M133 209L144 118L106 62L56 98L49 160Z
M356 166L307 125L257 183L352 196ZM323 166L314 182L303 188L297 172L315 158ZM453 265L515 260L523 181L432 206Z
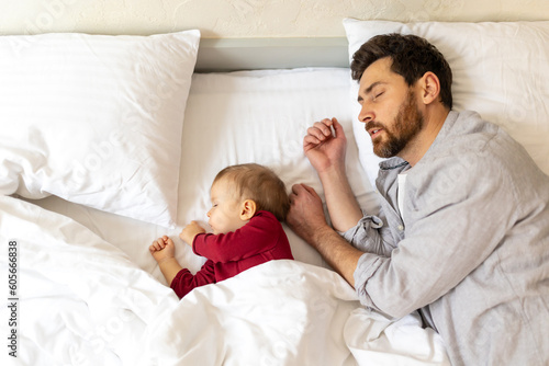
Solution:
M401 215L406 169L380 164L379 214L343 233L366 252L360 301L394 318L421 309L452 365L548 365L549 178L474 112L450 112L407 171Z

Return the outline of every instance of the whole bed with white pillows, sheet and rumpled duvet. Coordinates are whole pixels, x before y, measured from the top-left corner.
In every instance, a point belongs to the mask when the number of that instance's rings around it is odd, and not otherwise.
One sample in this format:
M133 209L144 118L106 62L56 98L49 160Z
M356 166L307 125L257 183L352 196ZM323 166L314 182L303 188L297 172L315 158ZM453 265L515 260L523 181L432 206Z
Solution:
M456 108L502 125L549 174L549 22L344 25L346 42L324 45L343 65L313 53L279 68L239 64L223 56L236 46L220 50L194 30L0 37L2 365L449 365L417 313L361 307L287 226L295 261L182 300L147 250L190 220L205 225L211 182L229 164L268 165L288 190L302 182L323 196L302 138L324 117L344 125L352 190L376 210L379 159L345 64L380 33L434 43L453 70ZM205 261L181 241L176 253L191 271Z

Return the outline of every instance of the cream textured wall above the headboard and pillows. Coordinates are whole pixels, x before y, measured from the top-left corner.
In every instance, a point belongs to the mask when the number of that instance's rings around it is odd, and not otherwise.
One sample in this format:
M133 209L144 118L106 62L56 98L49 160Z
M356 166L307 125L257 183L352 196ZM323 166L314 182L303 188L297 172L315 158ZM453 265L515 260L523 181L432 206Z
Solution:
M153 34L205 38L344 36L341 20L549 20L548 0L0 0L0 34Z

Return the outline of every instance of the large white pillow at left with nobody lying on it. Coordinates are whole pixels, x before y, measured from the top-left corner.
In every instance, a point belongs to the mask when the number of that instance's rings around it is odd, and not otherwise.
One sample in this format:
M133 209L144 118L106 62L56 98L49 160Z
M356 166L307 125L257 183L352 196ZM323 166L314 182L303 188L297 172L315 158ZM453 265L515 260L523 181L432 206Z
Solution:
M173 226L199 31L0 37L0 193Z

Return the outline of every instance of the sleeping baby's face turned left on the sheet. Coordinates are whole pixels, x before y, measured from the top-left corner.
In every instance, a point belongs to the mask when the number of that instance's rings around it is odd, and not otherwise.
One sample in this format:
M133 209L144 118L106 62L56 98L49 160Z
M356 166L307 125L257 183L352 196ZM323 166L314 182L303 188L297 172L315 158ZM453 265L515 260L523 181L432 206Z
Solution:
M208 211L215 235L227 233L242 228L246 221L240 218L242 203L233 195L234 186L226 179L215 182L210 191L212 208Z

